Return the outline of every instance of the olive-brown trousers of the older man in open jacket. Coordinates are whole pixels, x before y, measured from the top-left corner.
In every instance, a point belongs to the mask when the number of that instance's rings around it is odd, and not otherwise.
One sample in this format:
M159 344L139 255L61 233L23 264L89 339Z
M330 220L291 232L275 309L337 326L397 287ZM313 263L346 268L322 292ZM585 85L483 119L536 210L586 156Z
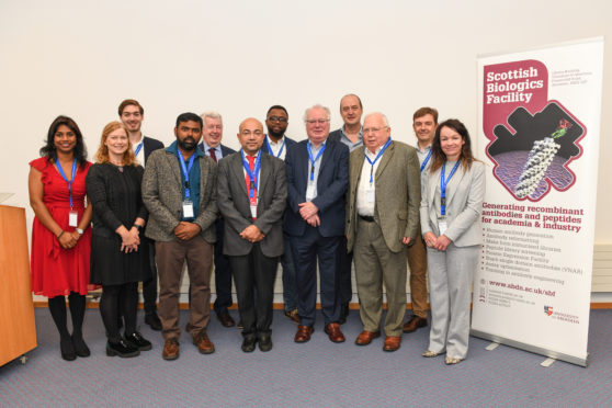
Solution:
M384 283L387 294L385 335L401 336L406 314L406 249L392 252L378 224L362 219L358 223L353 258L363 329L381 330Z

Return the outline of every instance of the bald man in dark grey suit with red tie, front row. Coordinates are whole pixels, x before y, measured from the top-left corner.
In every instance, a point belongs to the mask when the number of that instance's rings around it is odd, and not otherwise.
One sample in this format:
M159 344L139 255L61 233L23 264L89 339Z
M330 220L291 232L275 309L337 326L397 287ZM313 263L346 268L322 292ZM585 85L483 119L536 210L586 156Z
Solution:
M242 320L242 351L272 349L272 302L279 257L283 254L283 213L287 199L285 165L263 155L263 125L240 124L242 149L219 161L218 205L225 219L224 253L229 257ZM257 302L256 302L257 292Z

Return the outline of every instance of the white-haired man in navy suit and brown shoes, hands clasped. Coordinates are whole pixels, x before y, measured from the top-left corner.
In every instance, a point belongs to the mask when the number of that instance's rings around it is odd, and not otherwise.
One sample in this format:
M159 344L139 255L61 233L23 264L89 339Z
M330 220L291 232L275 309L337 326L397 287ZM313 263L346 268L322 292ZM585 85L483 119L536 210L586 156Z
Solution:
M310 340L317 304L317 259L325 332L333 342L344 341L340 331L340 302L337 296L337 259L344 234L345 199L349 183L349 148L329 136L328 107L306 110L307 140L288 149L285 231L291 236L297 269L299 325L295 342Z

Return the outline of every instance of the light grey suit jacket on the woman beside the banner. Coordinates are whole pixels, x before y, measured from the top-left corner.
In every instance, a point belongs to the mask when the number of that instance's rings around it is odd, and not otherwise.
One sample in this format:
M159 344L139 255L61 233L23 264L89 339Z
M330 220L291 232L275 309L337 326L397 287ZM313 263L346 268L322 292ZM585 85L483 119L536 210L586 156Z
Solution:
M423 178L423 196L421 200L421 228L423 235L432 231L437 236L438 216L440 215L441 169L429 172ZM445 177L449 177L446 172ZM485 200L485 165L474 161L463 171L460 167L446 185L446 223L444 235L457 247L483 243L480 214Z

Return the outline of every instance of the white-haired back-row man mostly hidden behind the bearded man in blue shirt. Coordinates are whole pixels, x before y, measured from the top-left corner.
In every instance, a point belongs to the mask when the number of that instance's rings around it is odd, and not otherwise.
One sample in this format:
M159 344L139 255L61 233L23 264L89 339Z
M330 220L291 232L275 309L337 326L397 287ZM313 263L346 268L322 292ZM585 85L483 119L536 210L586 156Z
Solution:
M202 151L215 162L236 152L236 150L222 145L222 115L217 112L204 112L201 116L204 121L202 144L200 144ZM217 230L217 241L215 242L215 292L217 297L214 309L224 327L233 327L235 321L227 310L234 304L231 298L231 267L229 265L229 258L223 253L224 222L220 215L215 223L215 228Z

